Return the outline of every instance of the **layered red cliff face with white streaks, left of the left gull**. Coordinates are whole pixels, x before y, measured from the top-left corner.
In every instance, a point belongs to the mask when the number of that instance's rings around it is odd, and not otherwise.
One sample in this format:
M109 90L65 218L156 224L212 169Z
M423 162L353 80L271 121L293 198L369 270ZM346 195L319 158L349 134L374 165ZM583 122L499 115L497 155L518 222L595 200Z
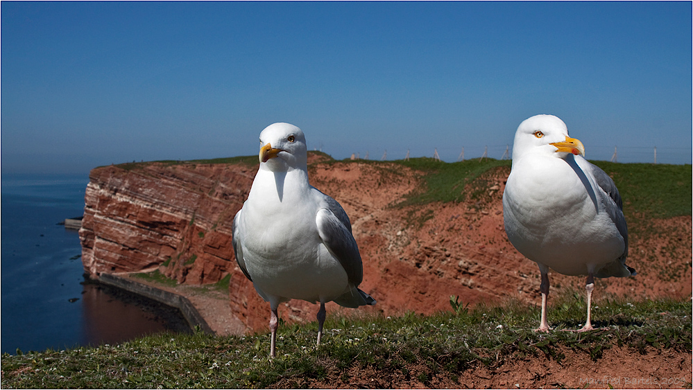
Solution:
M161 266L179 283L219 281L235 264L233 216L257 167L146 163L89 174L80 229L85 272Z

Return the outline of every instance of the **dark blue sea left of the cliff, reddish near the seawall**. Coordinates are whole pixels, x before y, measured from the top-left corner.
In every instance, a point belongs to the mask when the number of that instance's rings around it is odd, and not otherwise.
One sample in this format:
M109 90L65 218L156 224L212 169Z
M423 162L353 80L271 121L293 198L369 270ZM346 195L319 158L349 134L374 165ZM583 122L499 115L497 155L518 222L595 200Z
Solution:
M178 310L84 276L78 231L87 175L5 175L0 183L0 348L62 350L189 332Z

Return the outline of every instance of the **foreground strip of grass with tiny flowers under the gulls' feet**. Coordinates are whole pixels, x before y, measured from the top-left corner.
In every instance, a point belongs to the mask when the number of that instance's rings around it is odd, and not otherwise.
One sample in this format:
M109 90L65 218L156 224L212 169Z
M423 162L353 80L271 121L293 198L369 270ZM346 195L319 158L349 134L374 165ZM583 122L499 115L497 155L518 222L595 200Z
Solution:
M583 294L567 294L549 305L549 323L576 328L585 315ZM458 302L459 303L459 302ZM431 375L455 380L477 364L497 366L507 359L557 360L574 350L599 360L608 348L691 351L691 302L628 302L599 299L588 333L534 333L539 310L511 301L430 317L328 317L323 344L316 348L316 324L282 324L277 358L268 359L269 337L217 337L162 333L117 346L66 351L3 354L2 387L308 387L330 378L348 385L354 369L379 377L411 375L426 383ZM281 313L280 313L281 314ZM425 372L410 371L416 365ZM350 371L351 370L351 371ZM368 371L368 372L373 372ZM336 381L336 382L335 382Z

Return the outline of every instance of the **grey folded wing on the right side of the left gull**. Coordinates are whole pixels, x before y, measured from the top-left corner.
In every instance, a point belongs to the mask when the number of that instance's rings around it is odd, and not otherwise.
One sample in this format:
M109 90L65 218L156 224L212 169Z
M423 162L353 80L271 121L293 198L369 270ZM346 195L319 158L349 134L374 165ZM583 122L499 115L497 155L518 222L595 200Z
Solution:
M363 281L363 263L359 246L351 233L351 223L339 203L327 195L324 196L327 208L318 210L315 216L320 239L344 267L349 283L357 286Z

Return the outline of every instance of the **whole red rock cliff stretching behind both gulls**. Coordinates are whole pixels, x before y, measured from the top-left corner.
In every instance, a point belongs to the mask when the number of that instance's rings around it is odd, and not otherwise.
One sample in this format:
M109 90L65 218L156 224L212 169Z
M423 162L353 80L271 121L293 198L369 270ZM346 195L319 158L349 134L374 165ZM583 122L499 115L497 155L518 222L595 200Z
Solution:
M269 306L234 259L231 236L257 172L257 157L234 163L132 163L90 173L80 240L89 276L158 269L180 285L217 283L230 275L229 319L234 333L266 328ZM450 310L463 303L518 298L540 301L535 263L504 232L502 193L510 172L499 166L461 193L462 202L407 202L425 174L400 163L334 161L309 154L311 184L334 197L352 222L363 258L363 283L377 305L359 312L396 315ZM631 221L629 227L631 227ZM648 220L657 235L631 235L633 278L597 280L595 297L690 296L691 218ZM648 229L639 229L640 231ZM663 233L662 233L663 232ZM584 278L551 272L551 294L583 290ZM328 311L354 312L329 303ZM289 301L286 321L313 321L316 305ZM223 315L229 315L223 314Z

